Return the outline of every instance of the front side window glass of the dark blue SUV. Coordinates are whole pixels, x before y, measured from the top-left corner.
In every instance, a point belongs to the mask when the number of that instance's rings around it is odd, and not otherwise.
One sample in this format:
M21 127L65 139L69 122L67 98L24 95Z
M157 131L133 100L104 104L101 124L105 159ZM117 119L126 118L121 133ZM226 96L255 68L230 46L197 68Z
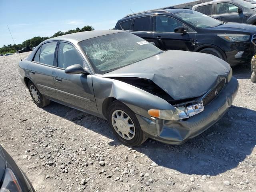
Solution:
M181 22L167 16L156 16L156 32L174 32L176 27L183 26Z

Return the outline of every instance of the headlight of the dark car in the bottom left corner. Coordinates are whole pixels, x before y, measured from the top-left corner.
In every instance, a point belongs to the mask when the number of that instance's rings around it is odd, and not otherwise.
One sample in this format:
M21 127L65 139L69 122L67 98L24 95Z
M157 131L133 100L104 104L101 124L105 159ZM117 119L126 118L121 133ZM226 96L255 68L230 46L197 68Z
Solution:
M4 173L3 184L0 188L0 192L12 192L12 191L22 192L14 173L9 168L6 168Z

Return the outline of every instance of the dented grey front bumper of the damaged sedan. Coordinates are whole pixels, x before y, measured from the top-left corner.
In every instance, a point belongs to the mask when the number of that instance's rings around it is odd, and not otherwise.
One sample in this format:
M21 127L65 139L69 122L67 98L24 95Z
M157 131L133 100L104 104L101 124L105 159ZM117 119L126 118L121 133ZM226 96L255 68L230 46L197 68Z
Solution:
M200 114L186 120L169 121L148 119L136 114L142 130L148 137L167 144L182 144L198 136L215 124L232 105L238 91L238 81L232 77L220 94Z

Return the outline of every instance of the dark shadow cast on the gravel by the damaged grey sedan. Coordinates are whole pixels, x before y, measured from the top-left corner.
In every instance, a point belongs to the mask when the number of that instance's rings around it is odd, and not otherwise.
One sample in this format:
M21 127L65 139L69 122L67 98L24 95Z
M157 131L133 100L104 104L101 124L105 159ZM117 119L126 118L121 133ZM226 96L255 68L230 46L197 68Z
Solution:
M106 120L55 102L44 110L110 138L113 140L109 143L111 146L121 145ZM148 139L134 149L174 172L215 176L236 168L251 154L256 145L255 120L255 111L232 106L218 123L182 145Z

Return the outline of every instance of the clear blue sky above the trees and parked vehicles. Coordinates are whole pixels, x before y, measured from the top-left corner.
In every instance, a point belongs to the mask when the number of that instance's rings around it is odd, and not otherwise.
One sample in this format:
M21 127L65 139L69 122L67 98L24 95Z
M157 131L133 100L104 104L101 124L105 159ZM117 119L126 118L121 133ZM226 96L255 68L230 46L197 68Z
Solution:
M0 47L91 25L114 28L126 14L193 0L0 0Z

